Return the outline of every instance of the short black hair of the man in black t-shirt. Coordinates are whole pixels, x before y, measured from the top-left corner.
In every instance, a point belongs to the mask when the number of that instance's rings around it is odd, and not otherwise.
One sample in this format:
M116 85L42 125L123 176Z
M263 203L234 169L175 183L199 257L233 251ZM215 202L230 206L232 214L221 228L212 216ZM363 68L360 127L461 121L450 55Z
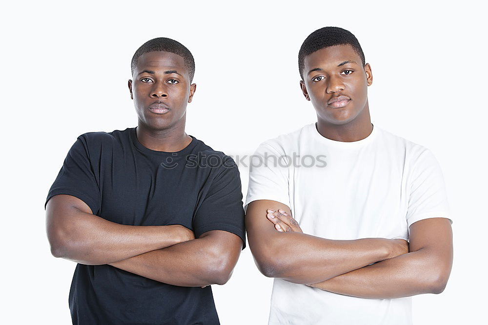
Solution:
M190 78L190 83L193 81L193 76L195 75L195 60L191 55L191 52L180 42L165 37L153 38L148 40L137 49L136 53L132 57L132 62L130 64L131 73L134 75L134 70L137 66L137 61L140 56L149 52L169 52L179 55L184 59L184 65L188 70L188 76Z

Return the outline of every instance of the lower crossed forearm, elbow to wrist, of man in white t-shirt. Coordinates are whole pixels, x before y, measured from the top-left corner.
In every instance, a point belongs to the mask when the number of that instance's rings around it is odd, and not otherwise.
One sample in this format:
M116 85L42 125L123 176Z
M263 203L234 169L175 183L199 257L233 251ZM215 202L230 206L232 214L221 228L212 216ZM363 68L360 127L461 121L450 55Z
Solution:
M446 285L443 268L418 250L360 268L312 285L347 296L371 299L408 297L422 293L440 293Z

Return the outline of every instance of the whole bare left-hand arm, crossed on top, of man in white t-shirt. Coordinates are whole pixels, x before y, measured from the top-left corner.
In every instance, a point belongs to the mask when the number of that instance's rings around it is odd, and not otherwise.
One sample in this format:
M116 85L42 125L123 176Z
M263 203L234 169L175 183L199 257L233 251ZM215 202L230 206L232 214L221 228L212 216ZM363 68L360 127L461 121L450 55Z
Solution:
M286 226L284 229L293 231L275 228L274 224L279 225L277 220L282 217L288 220L288 224L282 223ZM331 240L304 234L291 217L289 208L271 200L249 204L246 229L249 247L260 271L268 277L297 284L322 282L408 251L407 242L403 240Z

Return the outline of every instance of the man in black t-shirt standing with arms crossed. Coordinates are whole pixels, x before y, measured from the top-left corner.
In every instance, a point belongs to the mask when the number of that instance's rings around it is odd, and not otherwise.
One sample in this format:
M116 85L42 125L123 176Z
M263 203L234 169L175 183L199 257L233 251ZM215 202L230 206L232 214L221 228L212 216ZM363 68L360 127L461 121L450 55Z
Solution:
M73 324L219 324L209 285L245 246L239 170L184 131L188 49L155 38L131 67L138 126L80 135L46 199L53 255L78 262Z

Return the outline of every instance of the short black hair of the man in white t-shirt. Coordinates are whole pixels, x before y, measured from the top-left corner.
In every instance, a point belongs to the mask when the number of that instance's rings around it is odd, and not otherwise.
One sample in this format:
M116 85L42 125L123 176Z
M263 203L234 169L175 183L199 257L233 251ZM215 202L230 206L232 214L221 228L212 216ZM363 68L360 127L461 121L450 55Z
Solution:
M363 66L366 65L363 49L359 45L358 39L351 32L340 27L322 27L305 38L300 52L298 52L298 69L300 70L302 80L304 78L303 71L305 69L306 56L325 47L343 44L351 45L354 51L361 57Z

